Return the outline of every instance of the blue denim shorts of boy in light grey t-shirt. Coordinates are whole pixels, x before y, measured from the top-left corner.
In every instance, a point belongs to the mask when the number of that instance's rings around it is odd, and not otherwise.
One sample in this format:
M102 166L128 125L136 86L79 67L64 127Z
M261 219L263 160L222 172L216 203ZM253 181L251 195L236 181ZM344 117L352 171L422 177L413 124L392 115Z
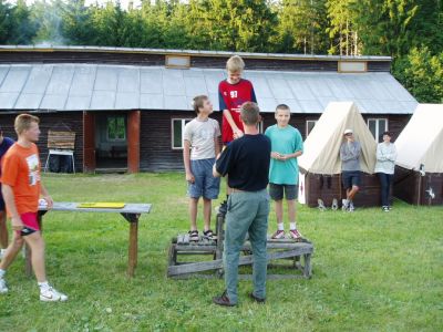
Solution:
M194 175L195 183L188 184L187 194L192 198L204 197L207 199L217 199L220 191L220 178L213 176L213 166L215 158L190 160L190 172Z

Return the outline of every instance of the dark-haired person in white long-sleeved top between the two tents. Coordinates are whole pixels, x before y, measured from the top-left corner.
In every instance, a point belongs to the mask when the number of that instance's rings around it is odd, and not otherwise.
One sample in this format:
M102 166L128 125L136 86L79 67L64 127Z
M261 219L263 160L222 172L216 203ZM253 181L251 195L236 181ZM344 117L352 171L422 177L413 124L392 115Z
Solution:
M395 145L391 143L391 134L389 132L384 132L383 142L377 146L377 164L374 172L379 175L381 189L381 208L385 212L389 212L391 210L389 197L391 193L392 178L394 176L395 159Z

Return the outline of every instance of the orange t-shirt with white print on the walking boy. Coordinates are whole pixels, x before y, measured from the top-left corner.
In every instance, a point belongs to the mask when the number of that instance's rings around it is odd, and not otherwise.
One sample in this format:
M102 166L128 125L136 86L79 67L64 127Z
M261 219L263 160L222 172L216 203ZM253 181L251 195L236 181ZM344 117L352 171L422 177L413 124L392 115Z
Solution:
M32 143L23 147L12 145L3 156L1 183L11 186L14 194L17 211L37 212L40 197L40 159L39 149Z

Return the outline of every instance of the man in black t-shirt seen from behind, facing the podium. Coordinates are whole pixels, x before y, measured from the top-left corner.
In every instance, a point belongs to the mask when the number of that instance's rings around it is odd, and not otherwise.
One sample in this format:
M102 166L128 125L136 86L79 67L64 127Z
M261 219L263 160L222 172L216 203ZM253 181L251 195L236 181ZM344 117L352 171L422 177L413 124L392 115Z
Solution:
M237 304L238 259L246 234L254 255L254 291L250 298L265 302L269 196L270 141L258 132L260 121L257 104L247 102L240 110L245 135L233 141L214 165L214 176L228 175L233 193L228 198L225 231L226 291L214 303Z

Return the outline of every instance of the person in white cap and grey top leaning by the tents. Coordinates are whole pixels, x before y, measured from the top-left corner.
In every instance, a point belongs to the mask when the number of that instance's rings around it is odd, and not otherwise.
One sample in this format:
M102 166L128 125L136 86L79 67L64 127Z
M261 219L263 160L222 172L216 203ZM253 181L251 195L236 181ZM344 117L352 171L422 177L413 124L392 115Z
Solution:
M346 142L340 146L341 179L347 190L347 198L342 200L343 211L354 210L353 198L360 186L360 154L361 146L353 136L352 129L346 129Z

